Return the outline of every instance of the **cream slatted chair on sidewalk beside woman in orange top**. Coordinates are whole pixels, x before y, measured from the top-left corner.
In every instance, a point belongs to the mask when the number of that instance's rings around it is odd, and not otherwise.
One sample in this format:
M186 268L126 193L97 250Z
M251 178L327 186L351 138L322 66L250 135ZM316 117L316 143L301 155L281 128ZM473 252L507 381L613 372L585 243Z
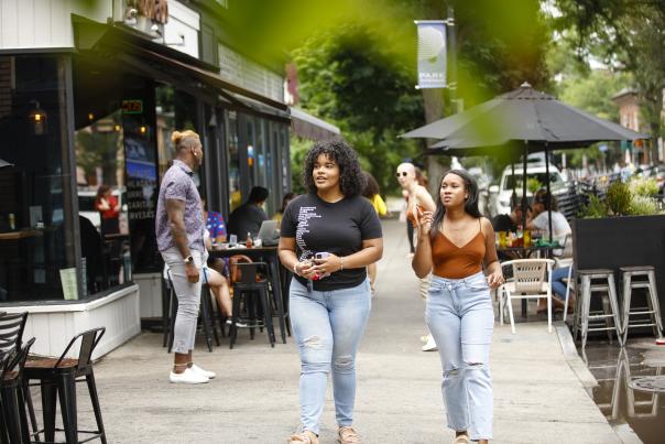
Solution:
M547 331L552 333L552 259L515 259L501 263L512 267L513 278L499 290L499 310L503 322L504 305L508 304L511 331L515 333L513 299L547 299Z

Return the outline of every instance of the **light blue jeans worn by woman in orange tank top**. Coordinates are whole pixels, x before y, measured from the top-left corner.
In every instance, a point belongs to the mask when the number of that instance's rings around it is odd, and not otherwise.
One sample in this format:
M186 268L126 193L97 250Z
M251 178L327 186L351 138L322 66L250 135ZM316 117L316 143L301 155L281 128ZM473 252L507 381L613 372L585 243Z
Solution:
M448 427L467 431L473 441L490 440L494 311L483 273L465 279L433 275L425 315L441 358Z

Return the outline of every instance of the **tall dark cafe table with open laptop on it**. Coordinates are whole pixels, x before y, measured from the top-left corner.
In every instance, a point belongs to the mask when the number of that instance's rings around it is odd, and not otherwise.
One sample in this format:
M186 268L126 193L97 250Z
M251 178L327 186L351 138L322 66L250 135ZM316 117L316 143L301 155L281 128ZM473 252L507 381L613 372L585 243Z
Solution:
M285 307L288 306L288 280L286 279L287 271L280 263L280 257L277 256L277 247L250 247L250 248L214 248L209 251L211 258L230 258L236 255L243 255L250 258L253 262L264 261L268 264L268 279L272 286L275 304L277 306L280 316L280 333L282 334L282 342L286 344L285 323L284 320L287 316ZM284 273L282 273L284 271Z

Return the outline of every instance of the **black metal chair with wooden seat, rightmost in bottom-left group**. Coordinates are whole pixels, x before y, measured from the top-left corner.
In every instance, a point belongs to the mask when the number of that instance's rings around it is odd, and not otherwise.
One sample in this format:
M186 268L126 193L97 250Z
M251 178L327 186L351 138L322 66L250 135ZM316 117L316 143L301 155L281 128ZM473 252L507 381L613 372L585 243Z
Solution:
M54 443L55 432L61 431L65 432L65 442L67 444L78 444L95 438L99 438L102 444L106 444L106 432L97 396L95 372L92 371L92 351L95 351L95 347L101 340L105 332L105 327L99 327L79 333L72 338L59 358L35 358L29 359L25 362L24 387L29 387L30 380L39 380L42 389L44 429L40 431L33 430L33 434L37 436L40 433L44 433L45 441L39 441L40 443ZM67 354L77 343L80 343L78 358L67 358ZM88 386L97 422L96 431L78 430L76 382L83 381L86 381ZM55 426L56 401L58 397L63 416L63 429L56 429ZM30 404L29 408L31 408ZM31 415L34 415L34 412L31 412ZM80 433L90 436L79 441L78 435Z

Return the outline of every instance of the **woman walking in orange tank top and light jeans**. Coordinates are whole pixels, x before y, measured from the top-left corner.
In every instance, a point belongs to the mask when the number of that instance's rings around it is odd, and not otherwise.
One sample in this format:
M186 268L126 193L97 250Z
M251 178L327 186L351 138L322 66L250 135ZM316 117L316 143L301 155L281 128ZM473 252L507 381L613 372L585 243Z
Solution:
M455 443L492 438L490 289L503 283L494 230L478 210L478 185L465 171L440 182L436 213L418 221L413 269L433 273L426 318L441 358L443 393ZM487 275L486 275L487 274Z

